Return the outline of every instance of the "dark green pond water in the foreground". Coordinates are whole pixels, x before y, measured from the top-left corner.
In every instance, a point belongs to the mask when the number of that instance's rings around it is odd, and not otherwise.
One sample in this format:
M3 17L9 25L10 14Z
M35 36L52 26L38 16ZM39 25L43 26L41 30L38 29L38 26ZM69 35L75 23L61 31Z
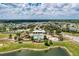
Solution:
M63 48L51 48L44 51L19 50L16 52L0 54L0 56L69 56L69 53Z

